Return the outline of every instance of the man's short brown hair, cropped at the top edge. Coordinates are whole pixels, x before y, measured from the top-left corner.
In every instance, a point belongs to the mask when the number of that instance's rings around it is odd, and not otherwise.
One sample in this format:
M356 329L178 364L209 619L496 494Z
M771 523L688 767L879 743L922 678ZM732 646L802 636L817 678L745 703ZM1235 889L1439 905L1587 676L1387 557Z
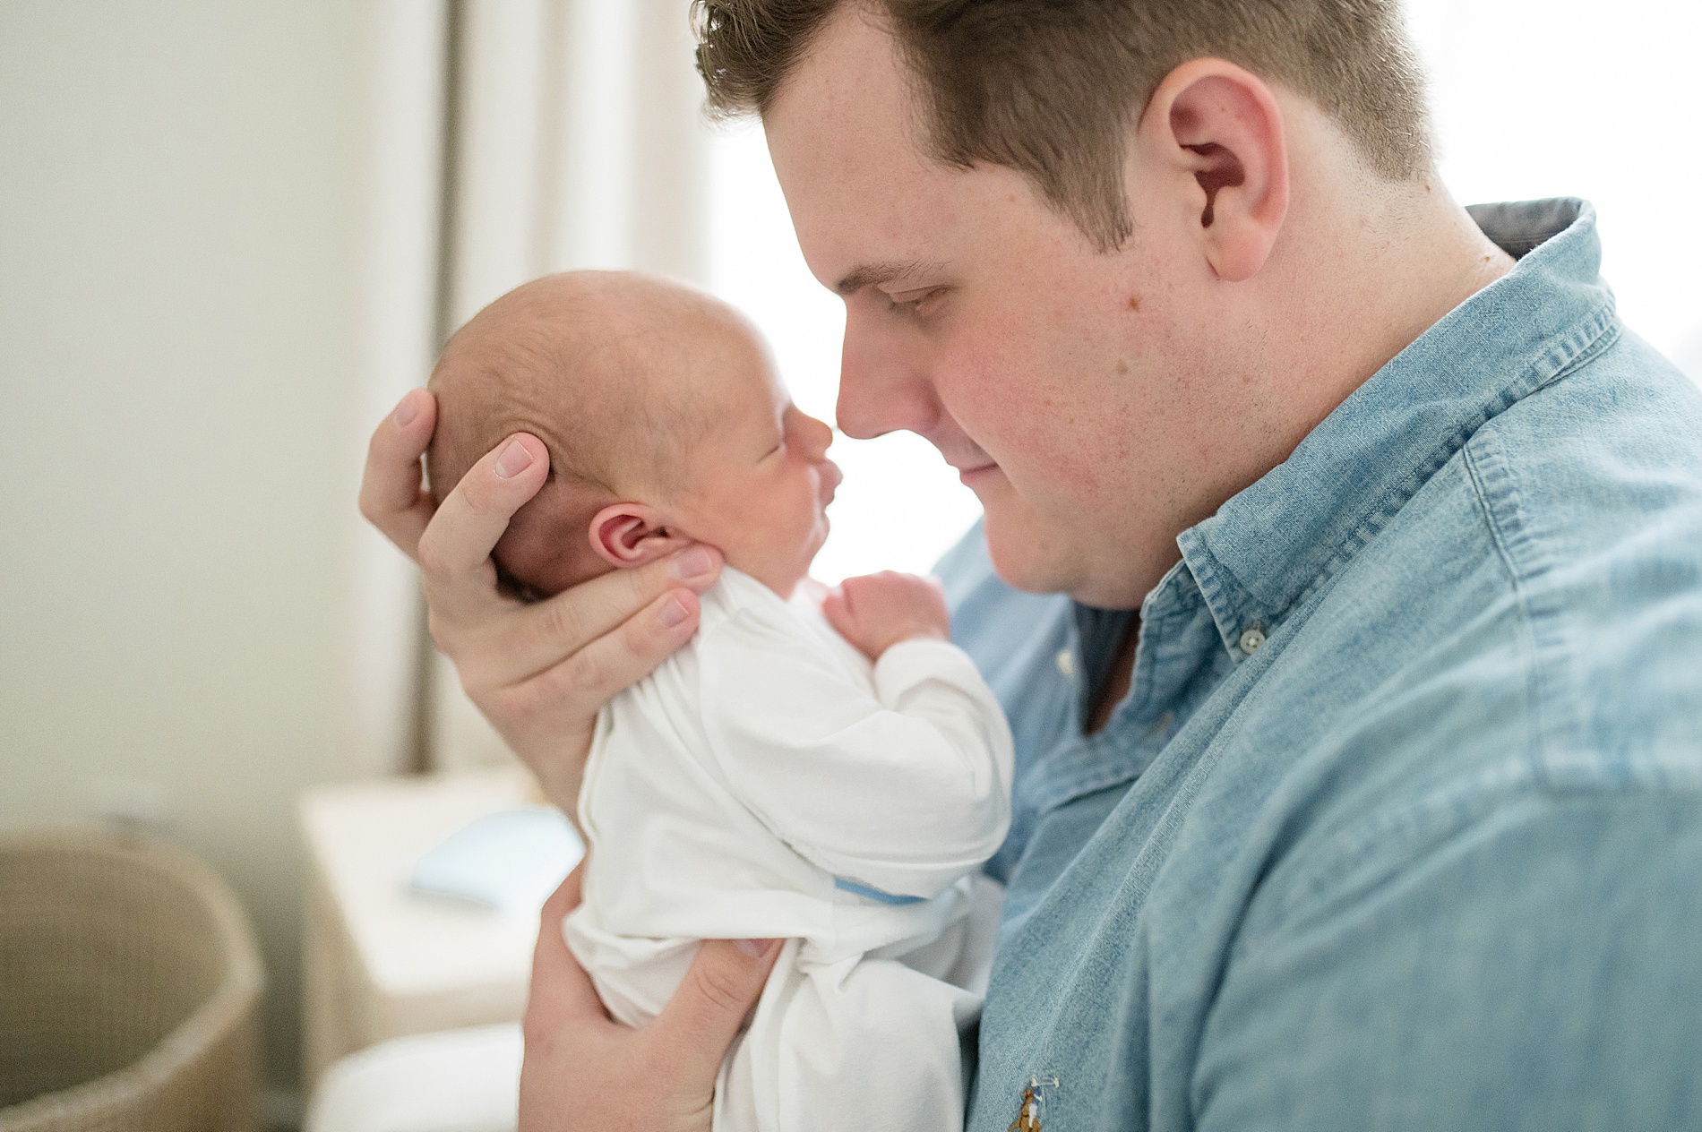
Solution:
M1229 60L1312 99L1389 180L1431 165L1399 0L694 0L710 111L762 114L839 3L885 17L940 160L1026 174L1106 250L1132 230L1127 126L1188 60Z

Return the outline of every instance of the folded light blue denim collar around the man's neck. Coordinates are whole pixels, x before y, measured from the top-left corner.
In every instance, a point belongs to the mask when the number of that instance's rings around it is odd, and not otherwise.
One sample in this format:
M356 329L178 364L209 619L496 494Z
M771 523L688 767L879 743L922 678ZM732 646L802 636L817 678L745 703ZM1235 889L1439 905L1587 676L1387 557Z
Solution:
M1513 271L1391 359L1283 463L1178 536L1234 660L1375 538L1486 420L1615 337L1588 203L1469 211L1518 259Z

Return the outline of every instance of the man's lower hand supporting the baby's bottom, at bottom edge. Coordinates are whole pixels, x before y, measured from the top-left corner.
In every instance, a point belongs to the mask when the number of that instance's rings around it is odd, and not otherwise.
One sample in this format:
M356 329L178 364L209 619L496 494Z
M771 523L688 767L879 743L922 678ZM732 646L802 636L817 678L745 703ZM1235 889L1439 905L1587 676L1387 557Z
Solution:
M538 926L519 1132L708 1132L715 1078L781 941L705 941L657 1020L628 1030L603 1009L562 938L562 918L579 904L579 873L543 906Z

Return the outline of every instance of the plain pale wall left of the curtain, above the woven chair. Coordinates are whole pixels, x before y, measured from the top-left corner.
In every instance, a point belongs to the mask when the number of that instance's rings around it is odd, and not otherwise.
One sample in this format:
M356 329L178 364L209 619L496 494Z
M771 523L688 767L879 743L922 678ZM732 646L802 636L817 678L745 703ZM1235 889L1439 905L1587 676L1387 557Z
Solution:
M371 9L0 3L0 824L131 807L208 858L279 1083L293 798L391 758L349 616Z

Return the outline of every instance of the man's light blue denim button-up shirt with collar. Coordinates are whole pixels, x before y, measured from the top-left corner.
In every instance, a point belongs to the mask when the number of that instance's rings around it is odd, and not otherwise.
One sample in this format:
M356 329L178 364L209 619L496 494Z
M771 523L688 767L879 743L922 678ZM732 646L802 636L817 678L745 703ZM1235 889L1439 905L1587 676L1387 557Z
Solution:
M1018 742L968 1127L1702 1127L1702 395L1581 201L1127 615L943 563Z

